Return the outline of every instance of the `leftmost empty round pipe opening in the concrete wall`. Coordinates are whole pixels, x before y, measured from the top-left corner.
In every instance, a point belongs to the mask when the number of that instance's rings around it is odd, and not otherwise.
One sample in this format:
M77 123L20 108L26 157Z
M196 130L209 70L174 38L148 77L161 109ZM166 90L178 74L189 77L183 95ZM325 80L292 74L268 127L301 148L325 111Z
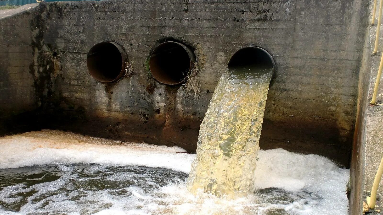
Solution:
M104 83L118 81L125 75L126 54L116 42L99 42L87 55L88 71Z

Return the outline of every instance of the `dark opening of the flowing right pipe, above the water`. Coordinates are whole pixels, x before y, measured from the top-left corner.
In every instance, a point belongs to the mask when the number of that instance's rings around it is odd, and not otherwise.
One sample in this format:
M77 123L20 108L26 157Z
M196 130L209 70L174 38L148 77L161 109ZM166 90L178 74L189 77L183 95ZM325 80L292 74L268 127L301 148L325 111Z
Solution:
M275 77L275 61L270 53L258 46L247 46L237 50L229 60L228 68L263 67L273 68L271 80Z

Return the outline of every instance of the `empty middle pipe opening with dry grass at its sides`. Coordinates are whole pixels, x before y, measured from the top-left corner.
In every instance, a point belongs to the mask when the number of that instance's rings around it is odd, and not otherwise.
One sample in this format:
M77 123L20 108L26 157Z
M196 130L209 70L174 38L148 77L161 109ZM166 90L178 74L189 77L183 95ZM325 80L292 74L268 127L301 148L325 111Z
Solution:
M163 42L153 50L149 58L149 69L153 77L167 85L185 81L194 62L193 52L179 42Z

